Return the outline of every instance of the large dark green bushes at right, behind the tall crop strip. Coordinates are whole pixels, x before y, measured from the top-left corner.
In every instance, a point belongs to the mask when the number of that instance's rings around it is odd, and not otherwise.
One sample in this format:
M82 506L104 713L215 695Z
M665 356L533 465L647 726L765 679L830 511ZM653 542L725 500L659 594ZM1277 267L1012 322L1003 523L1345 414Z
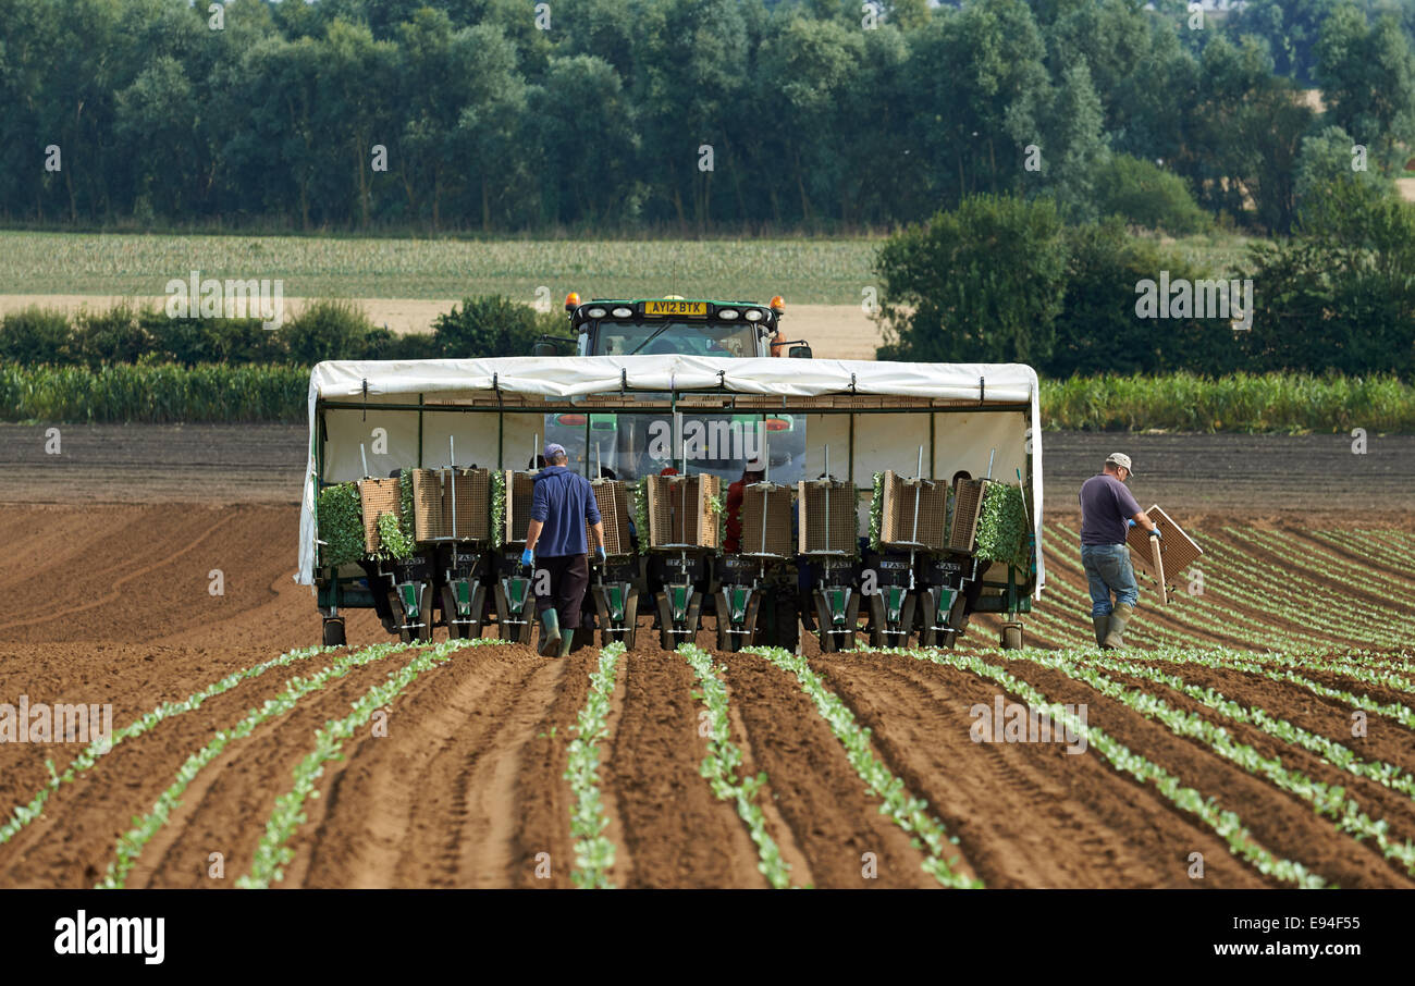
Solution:
M1116 221L972 197L886 240L880 359L1026 362L1053 378L1184 371L1415 379L1415 205L1346 174L1296 235L1217 280Z

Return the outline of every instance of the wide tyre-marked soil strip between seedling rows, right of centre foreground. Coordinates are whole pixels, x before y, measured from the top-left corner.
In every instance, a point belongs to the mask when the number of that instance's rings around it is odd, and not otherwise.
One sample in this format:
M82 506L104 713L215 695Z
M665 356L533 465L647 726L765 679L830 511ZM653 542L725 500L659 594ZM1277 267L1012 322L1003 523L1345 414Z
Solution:
M1276 886L1095 751L974 743L969 709L993 704L992 682L914 658L826 656L812 665L873 731L889 768L958 836L989 887ZM1203 883L1186 876L1194 852L1204 856Z

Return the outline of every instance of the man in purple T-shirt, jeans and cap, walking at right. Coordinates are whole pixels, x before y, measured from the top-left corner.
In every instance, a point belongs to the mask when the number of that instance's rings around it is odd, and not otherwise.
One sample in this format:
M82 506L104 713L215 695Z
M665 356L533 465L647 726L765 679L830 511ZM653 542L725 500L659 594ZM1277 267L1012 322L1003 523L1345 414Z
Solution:
M1133 526L1131 521L1150 538L1160 536L1159 528L1125 487L1131 475L1131 457L1118 451L1105 460L1099 475L1081 484L1081 564L1091 587L1095 642L1105 651L1125 646L1125 625L1135 617L1135 604L1140 597L1131 550L1125 545L1125 533Z

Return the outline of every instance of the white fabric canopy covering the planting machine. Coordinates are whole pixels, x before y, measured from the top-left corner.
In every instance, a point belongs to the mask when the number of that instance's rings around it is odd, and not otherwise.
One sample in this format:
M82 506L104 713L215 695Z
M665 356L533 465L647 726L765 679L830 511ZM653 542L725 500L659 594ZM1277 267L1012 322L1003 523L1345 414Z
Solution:
M511 356L501 359L330 361L310 372L310 454L300 508L300 570L296 580L314 580L314 502L318 494L316 460L318 400L366 399L409 403L420 399L502 395L583 398L617 395L621 388L669 392L726 389L743 395L814 398L856 393L934 398L988 405L1027 405L1032 453L1029 505L1041 543L1041 420L1037 375L1022 364L906 364L845 359L652 356ZM419 398L422 395L422 398ZM429 412L436 410L429 407ZM509 410L509 409L508 409ZM519 407L518 412L528 409ZM876 412L877 413L877 412ZM918 413L928 413L927 407ZM869 422L862 414L860 422ZM1037 552L1037 591L1044 580Z

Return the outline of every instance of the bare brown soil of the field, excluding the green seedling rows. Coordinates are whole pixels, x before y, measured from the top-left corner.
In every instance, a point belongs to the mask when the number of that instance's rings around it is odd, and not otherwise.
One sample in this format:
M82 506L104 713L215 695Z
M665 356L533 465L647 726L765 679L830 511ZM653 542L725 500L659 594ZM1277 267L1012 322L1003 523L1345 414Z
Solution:
M310 591L293 581L293 505L222 505L218 498L183 505L20 504L7 511L14 523L0 569L0 702L25 695L31 702L110 703L120 727L225 675L317 642ZM1330 516L1332 526L1380 526L1370 516L1347 516L1344 525ZM1217 511L1184 515L1182 522L1206 536L1249 525L1241 514ZM1278 512L1254 523L1299 538L1305 529L1300 518ZM1412 525L1398 515L1387 526ZM1245 573L1247 584L1258 591L1281 586L1285 572L1276 557L1262 550L1254 556L1268 567ZM1053 580L1084 593L1074 549L1050 529L1047 557ZM1364 563L1358 553L1344 557ZM214 569L224 577L221 596L208 591ZM1411 572L1378 570L1415 591ZM1323 577L1356 576L1333 569ZM1373 604L1384 598L1370 588L1356 591ZM1088 635L1087 614L1074 601L1049 594L1040 605L1060 624L1029 624L1030 639L1060 644L1051 639L1057 625ZM1140 622L1196 644L1265 642L1257 628L1232 638L1186 630L1176 618L1182 604L1177 600L1167 611L1145 605ZM1259 627L1300 628L1275 611L1247 613ZM388 639L371 613L348 615L352 645ZM681 656L658 651L647 624L645 618L638 649L620 662L608 736L600 747L606 833L617 847L611 878L621 887L764 887L746 825L699 774L706 741L698 731L702 703L693 696L695 675ZM996 617L976 617L961 646L992 646L996 634ZM1333 637L1333 644L1346 642ZM699 644L712 648L710 618ZM998 693L992 683L911 658L819 656L809 634L802 635L802 649L873 730L872 743L886 765L959 837L957 866L989 887L1269 886L1207 826L1153 788L1114 771L1094 751L1075 757L1056 744L972 743L968 709L992 702ZM249 869L275 799L289 789L316 729L347 714L351 702L412 654L355 669L252 737L233 741L188 787L129 886L231 886ZM92 886L113 857L116 839L134 815L151 808L190 754L282 690L291 675L307 675L330 659L320 655L242 680L120 744L92 771L61 785L40 819L0 845L0 886ZM559 662L502 645L458 652L420 675L392 703L386 737L365 730L345 743L342 760L325 765L320 796L306 804L307 820L290 842L294 862L279 886L570 886L572 795L563 774L594 661L594 651ZM740 772L768 775L760 802L768 832L792 867L792 883L937 886L920 870L923 853L879 813L879 799L792 676L751 655L722 655L722 661L732 737L744 754ZM1415 733L1385 717L1370 716L1368 737L1351 738L1351 710L1299 686L1240 672L1157 666L1330 736L1365 758L1415 771ZM1056 672L1029 662L1012 668L1056 700L1087 702L1094 724L1237 811L1275 854L1307 863L1341 886L1411 883L1305 802L1207 748ZM1380 702L1415 704L1408 693L1341 675L1309 676ZM1344 784L1373 818L1387 818L1402 839L1415 836L1409 799L1337 774L1252 730L1235 736L1317 779ZM62 770L81 748L0 744L0 813L28 802L45 782L45 760ZM208 877L214 852L224 854L221 880ZM866 852L877 857L873 881L862 880ZM1187 877L1191 852L1204 854L1203 881ZM536 873L542 860L548 878Z

